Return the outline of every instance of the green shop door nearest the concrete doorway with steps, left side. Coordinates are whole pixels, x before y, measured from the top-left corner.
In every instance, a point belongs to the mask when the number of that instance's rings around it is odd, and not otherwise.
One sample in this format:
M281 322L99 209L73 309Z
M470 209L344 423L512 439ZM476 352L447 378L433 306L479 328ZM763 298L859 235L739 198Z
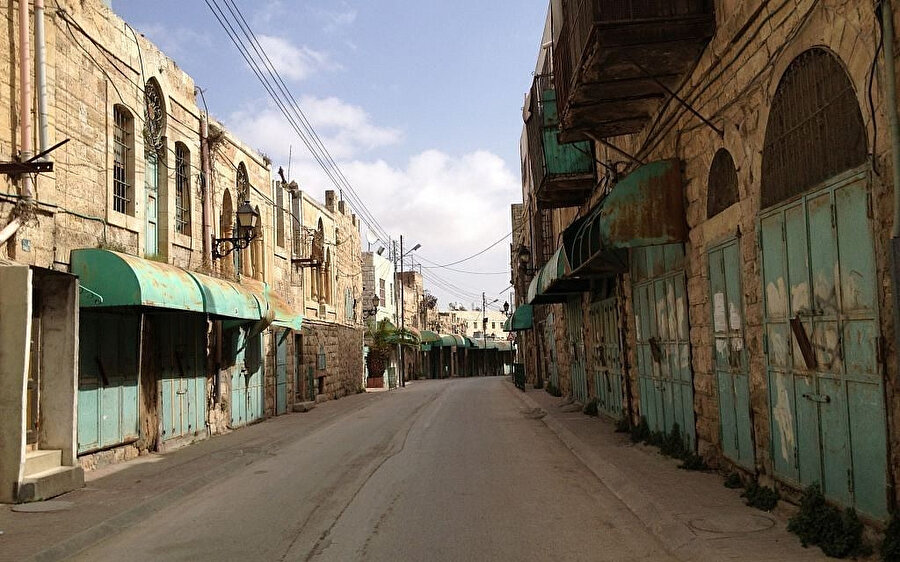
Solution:
M81 311L78 454L138 438L140 314Z

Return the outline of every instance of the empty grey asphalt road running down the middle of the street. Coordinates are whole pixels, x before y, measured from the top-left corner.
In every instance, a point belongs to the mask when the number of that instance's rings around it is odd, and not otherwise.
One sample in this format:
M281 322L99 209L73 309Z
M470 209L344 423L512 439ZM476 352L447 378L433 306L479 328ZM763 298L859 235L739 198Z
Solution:
M77 559L670 560L515 392L411 384Z

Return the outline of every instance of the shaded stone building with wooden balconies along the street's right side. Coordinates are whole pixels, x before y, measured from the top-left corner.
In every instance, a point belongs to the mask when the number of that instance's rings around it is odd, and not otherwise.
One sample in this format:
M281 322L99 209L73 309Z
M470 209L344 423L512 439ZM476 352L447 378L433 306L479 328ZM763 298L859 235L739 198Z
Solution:
M606 4L551 3L526 102L529 377L885 519L900 138L880 8Z

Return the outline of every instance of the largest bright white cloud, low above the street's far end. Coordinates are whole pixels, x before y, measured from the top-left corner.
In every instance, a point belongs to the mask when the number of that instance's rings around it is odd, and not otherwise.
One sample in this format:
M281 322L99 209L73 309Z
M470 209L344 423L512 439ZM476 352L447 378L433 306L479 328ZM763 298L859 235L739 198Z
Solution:
M422 244L417 254L439 264L450 263L486 248L510 231L509 206L519 198L521 186L518 174L496 154L481 150L450 154L432 149L395 165L367 154L399 142L401 131L379 127L362 108L337 98L304 98L301 104L369 212L391 237L403 234L408 247ZM314 197L322 200L325 190L335 189L274 108L247 108L232 114L227 125L250 146L271 156L275 169L278 165L287 168L288 147L293 145L291 179ZM345 198L349 199L347 194ZM351 209L360 214L352 204ZM508 264L509 242L504 241L454 268L500 272L506 271ZM438 295L441 306L450 301L470 306L472 300L480 300L475 296L481 291L499 296L496 292L509 281L507 275L467 275L443 269L427 274L456 288L448 291L426 277L426 287Z

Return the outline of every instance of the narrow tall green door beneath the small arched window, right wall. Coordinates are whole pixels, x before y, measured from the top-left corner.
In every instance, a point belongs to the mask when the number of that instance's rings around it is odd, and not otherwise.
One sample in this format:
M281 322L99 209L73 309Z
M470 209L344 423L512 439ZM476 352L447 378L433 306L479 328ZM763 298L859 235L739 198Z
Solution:
M709 285L722 452L733 462L753 471L750 377L744 343L739 240L732 239L709 250Z

